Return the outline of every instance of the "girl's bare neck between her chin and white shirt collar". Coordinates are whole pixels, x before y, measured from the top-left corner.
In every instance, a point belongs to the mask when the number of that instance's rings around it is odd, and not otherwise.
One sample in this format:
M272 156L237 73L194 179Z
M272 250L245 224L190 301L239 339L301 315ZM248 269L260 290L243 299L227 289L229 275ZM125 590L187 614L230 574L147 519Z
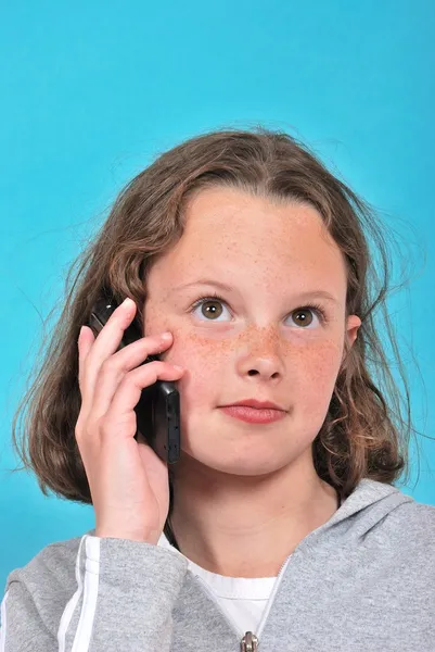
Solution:
M184 454L172 486L170 523L180 552L227 577L276 577L338 507L335 489L307 459L268 475L234 476Z

